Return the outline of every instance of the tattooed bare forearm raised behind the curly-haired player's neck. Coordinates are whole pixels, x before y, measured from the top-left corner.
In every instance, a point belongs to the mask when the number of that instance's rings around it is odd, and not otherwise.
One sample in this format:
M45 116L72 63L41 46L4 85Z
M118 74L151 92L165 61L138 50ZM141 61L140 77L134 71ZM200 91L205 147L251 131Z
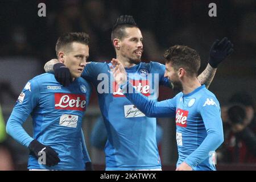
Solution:
M212 68L210 64L207 65L205 70L198 76L198 80L201 84L205 84L206 88L209 88L210 83L212 82L217 68Z

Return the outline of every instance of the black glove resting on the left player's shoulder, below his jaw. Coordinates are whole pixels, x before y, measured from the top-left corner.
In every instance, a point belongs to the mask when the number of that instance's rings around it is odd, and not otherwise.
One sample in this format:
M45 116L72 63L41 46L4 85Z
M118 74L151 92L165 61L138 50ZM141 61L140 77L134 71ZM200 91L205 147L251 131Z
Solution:
M53 65L55 79L63 86L68 86L72 83L71 73L63 63Z

